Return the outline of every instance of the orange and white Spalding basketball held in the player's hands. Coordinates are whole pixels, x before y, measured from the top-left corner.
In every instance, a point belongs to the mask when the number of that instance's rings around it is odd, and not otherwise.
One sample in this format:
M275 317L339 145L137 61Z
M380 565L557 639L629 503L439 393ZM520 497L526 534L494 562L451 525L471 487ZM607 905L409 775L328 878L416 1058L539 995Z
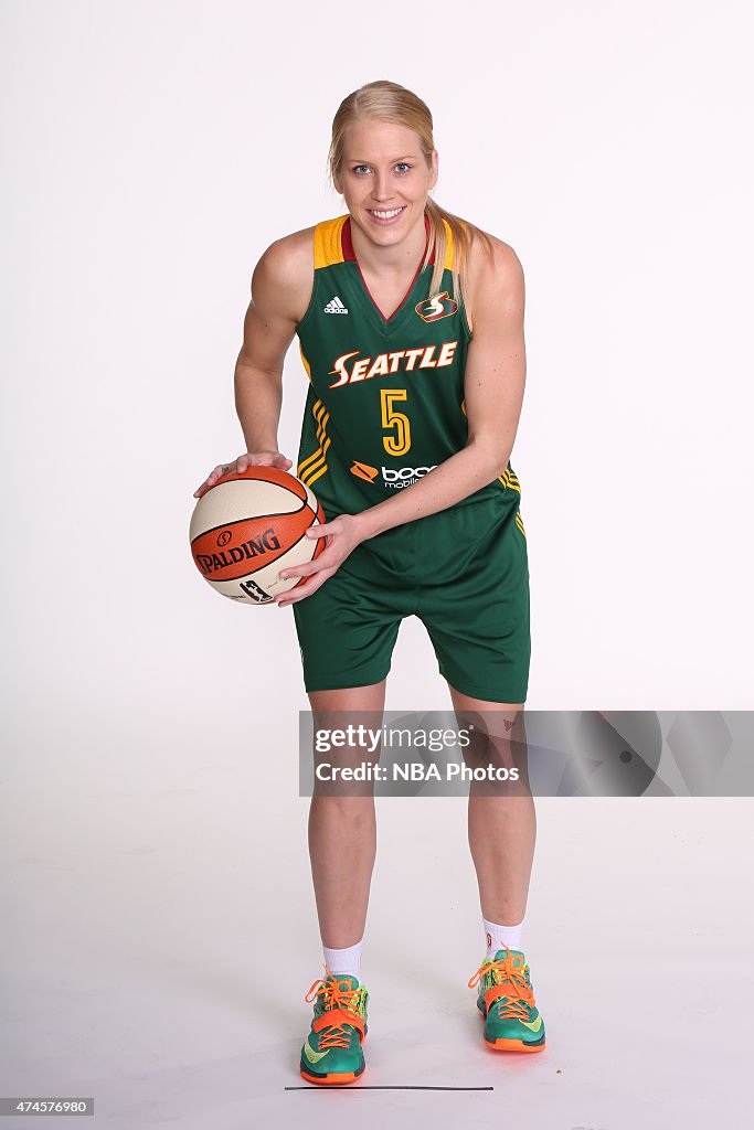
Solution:
M307 580L278 580L286 567L305 565L323 551L324 538L306 530L324 522L310 488L277 467L249 467L224 475L193 508L189 540L194 564L220 596L269 605Z

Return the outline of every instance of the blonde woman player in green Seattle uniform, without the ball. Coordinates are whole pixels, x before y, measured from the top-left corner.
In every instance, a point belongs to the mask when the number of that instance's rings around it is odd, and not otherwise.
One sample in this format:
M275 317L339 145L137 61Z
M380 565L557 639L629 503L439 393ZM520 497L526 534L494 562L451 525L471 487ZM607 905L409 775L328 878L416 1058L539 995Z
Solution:
M521 492L509 459L526 374L523 275L509 244L430 197L432 127L424 102L389 81L338 108L329 160L348 211L272 243L253 272L235 372L248 451L235 469L292 467L277 429L297 334L309 389L295 473L324 508L313 536L327 545L281 572L306 580L277 602L293 606L312 711L382 712L401 618L416 615L457 714L513 719L530 652ZM500 1050L545 1046L522 950L535 832L530 796L469 797L487 944L469 986L478 984L484 1040ZM314 796L309 842L324 977L306 994L314 1016L301 1074L350 1083L364 1071L373 798ZM436 929L432 907L427 916Z

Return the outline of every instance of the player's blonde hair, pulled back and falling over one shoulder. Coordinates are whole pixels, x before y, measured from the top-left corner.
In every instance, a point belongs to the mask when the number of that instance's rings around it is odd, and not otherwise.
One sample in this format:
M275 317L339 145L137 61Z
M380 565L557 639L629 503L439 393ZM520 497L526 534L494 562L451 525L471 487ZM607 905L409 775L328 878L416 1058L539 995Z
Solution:
M427 167L432 167L434 140L430 107L426 103L422 102L418 95L411 90L407 90L405 86L399 86L398 82L390 82L388 79L378 79L375 82L367 82L365 86L361 86L344 98L332 119L332 140L328 154L328 167L333 189L335 177L340 174L345 156L346 130L356 122L364 121L365 119L395 122L397 125L405 125L409 130L413 130L419 138L422 154L427 163ZM426 214L430 219L430 238L422 270L432 258L432 252L434 251L435 253L434 268L430 282L430 295L436 293L444 269L448 244L443 224L444 219L453 235L453 259L451 267L453 280L452 297L462 303L468 282L468 252L471 243L475 238L480 240L492 260L494 255L492 240L482 228L441 208L431 195L427 195Z

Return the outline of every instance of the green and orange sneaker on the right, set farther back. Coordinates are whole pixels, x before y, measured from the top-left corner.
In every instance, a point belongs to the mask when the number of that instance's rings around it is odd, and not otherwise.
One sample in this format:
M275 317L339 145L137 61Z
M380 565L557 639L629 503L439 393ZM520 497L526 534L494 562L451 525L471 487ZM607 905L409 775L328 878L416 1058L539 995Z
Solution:
M499 949L469 980L479 985L477 1008L484 1020L484 1042L495 1051L540 1052L545 1022L535 1006L529 966L520 949Z

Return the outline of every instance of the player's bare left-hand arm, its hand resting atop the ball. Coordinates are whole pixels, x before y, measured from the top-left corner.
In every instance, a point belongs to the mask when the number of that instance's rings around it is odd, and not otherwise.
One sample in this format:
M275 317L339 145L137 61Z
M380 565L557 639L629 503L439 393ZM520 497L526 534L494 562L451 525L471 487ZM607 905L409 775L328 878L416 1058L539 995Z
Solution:
M292 461L278 451L283 405L283 365L312 292L311 231L270 244L251 278L251 302L243 322L243 344L234 373L235 408L246 452L234 460L242 471L253 463L287 470ZM194 492L201 497L223 475L219 464Z

